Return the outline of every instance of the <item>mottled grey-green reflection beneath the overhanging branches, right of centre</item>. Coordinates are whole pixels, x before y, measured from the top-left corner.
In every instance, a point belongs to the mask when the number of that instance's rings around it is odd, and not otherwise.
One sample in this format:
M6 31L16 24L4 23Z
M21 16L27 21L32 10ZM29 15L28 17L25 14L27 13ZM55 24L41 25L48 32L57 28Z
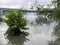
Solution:
M36 19L37 24L43 25L43 24L50 24L51 22L53 22L51 13L37 14L37 16L38 16Z

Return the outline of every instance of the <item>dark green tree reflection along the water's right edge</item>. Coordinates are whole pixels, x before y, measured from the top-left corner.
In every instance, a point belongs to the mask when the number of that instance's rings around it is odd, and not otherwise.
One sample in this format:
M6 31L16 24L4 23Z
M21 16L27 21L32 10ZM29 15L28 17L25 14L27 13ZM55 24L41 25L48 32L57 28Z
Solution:
M49 42L49 45L60 45L60 17L54 16L54 20L56 21L56 26L53 30L53 34L57 37L54 41Z

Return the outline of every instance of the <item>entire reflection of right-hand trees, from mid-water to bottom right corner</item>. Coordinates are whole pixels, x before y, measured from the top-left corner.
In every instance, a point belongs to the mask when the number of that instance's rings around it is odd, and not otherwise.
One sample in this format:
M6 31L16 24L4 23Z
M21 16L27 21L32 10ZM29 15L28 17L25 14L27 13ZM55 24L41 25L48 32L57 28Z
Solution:
M43 24L50 24L51 22L56 22L55 28L52 32L52 35L55 35L57 38L55 40L49 41L48 45L60 45L60 17L55 16L52 13L45 14L38 14L36 19L36 23L43 25Z

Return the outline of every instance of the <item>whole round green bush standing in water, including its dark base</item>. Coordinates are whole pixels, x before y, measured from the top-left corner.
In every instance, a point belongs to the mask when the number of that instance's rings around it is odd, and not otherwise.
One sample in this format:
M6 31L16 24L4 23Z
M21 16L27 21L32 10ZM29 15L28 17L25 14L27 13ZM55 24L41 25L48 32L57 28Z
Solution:
M20 34L21 29L27 29L25 28L27 20L23 16L22 10L13 10L6 13L5 22L9 26L8 30L10 30L11 34Z

